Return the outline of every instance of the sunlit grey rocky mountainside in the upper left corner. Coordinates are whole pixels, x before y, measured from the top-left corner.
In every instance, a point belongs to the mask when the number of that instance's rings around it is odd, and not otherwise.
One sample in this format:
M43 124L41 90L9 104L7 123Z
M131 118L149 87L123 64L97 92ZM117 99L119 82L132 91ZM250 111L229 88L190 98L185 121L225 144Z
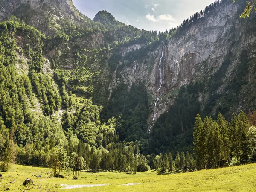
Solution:
M2 0L0 20L15 15L46 35L59 29L60 20L68 18L77 23L83 18L72 0Z

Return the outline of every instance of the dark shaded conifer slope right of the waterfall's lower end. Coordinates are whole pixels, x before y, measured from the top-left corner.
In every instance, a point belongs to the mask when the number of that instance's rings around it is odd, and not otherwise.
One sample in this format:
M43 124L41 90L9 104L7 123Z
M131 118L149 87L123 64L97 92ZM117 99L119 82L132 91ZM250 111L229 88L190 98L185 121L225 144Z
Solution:
M181 87L175 103L168 112L163 113L155 122L150 138L150 153L171 151L192 152L193 124L196 114L201 112L198 102L202 84L191 83Z

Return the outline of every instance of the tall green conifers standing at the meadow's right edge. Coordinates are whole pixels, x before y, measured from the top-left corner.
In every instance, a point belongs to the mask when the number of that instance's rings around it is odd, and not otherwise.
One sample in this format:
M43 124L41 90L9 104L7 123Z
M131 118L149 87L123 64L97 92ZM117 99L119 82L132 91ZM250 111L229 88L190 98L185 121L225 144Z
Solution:
M218 119L198 114L195 118L194 145L196 167L214 169L256 162L256 112L241 111L228 122L219 113Z

